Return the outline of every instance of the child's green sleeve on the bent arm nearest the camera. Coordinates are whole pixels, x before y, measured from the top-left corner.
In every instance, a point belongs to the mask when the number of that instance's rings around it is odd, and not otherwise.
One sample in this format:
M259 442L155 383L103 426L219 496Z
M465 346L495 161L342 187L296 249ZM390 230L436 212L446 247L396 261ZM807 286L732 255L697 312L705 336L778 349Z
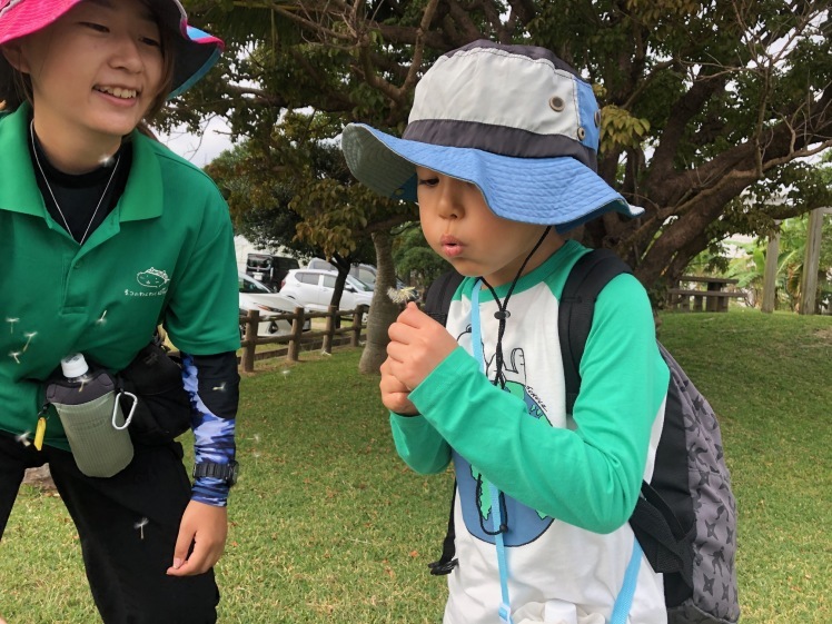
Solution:
M575 430L528 417L524 402L493 386L462 348L409 398L499 489L552 517L608 533L635 507L668 382L646 293L632 276L616 277L600 296L581 374Z

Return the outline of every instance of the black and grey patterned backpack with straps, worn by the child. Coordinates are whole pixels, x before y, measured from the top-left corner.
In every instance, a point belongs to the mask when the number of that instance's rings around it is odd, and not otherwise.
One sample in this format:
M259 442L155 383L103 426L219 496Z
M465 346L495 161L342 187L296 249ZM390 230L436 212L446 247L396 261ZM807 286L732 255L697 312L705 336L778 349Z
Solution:
M557 324L568 414L581 389L578 366L595 301L622 273L632 269L611 250L596 249L577 260L564 285ZM462 280L453 269L437 278L426 294L424 311L444 325ZM661 343L658 349L671 372L664 426L653 478L642 483L630 524L653 569L664 574L668 624L733 624L740 618L736 503L720 425L707 400ZM430 574L448 574L456 565L454 538L452 497L442 557L428 564Z

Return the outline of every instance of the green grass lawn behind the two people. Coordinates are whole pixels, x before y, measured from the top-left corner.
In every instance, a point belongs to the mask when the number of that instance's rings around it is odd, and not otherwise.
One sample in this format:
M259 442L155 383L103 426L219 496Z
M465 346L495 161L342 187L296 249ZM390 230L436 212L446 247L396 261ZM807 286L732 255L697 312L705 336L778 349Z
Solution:
M832 622L832 318L668 314L661 339L721 417L742 622ZM445 582L426 564L452 482L396 457L378 379L358 375L359 355L266 360L244 378L220 622L440 622ZM0 542L0 614L99 621L72 523L59 498L32 487Z

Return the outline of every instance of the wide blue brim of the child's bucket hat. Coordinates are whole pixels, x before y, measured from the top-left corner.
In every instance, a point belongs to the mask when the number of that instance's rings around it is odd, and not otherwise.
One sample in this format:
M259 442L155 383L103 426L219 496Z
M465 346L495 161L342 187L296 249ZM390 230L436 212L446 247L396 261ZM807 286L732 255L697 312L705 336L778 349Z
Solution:
M637 217L597 174L574 158L516 158L473 148L399 139L364 123L344 129L341 149L353 175L395 199L416 201L416 167L476 185L492 211L504 219L575 228L615 210Z

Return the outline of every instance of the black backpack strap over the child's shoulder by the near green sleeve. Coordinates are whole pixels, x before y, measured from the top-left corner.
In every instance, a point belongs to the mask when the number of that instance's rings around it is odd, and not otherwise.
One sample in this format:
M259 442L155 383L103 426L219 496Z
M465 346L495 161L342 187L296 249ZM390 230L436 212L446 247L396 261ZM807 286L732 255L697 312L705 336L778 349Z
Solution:
M592 328L595 301L614 277L633 269L611 249L593 249L578 258L563 287L557 333L566 383L566 413L572 414L581 392L581 357Z

